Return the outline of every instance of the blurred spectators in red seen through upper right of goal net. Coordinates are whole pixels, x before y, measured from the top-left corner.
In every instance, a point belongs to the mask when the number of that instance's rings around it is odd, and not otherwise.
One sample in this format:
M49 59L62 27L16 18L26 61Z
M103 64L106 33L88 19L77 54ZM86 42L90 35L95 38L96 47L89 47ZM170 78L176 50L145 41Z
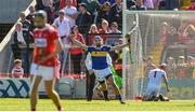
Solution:
M195 39L195 23L192 16L176 19L177 16L170 17L169 20L161 24L160 41L165 46L171 44L193 44Z

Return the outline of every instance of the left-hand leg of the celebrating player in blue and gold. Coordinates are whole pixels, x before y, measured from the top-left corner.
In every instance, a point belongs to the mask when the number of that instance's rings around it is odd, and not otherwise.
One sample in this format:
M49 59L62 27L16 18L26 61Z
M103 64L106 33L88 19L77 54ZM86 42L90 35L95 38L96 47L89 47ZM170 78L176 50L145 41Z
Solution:
M99 82L101 85L101 89L103 90L105 101L109 101L106 82L105 81L99 81Z

